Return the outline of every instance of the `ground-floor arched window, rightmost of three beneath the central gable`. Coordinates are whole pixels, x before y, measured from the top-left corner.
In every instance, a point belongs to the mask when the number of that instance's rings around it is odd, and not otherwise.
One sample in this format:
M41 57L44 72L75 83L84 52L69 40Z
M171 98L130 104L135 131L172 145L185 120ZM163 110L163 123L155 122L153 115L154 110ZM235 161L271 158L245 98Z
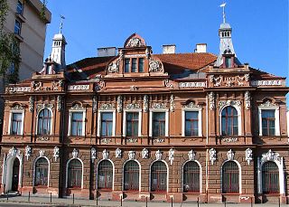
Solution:
M156 161L151 167L151 191L166 192L167 168L162 161Z

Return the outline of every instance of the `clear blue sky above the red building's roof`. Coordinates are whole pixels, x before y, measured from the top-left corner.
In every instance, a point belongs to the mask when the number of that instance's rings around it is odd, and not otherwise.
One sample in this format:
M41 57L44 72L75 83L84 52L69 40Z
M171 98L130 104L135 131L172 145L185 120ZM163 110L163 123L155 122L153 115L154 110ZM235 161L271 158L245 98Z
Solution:
M66 17L63 34L68 42L66 61L97 56L97 48L123 47L138 33L154 53L163 44L176 44L176 52L193 52L205 42L208 52L219 52L222 0L48 0L52 13L47 28L45 56L51 39ZM250 66L288 77L288 0L227 0L227 22L233 28L238 59Z

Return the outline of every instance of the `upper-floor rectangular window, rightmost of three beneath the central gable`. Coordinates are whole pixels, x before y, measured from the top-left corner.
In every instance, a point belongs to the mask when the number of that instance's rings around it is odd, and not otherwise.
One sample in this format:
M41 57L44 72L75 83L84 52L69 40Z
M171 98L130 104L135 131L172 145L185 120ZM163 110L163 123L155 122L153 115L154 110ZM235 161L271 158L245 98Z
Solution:
M153 136L165 136L165 112L153 113Z

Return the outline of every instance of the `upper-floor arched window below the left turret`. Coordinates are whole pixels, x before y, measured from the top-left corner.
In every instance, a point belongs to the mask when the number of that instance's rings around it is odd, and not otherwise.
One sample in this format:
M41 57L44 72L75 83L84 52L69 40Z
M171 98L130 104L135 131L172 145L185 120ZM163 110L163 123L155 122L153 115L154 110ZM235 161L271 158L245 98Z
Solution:
M51 110L44 108L38 115L38 135L51 134Z

